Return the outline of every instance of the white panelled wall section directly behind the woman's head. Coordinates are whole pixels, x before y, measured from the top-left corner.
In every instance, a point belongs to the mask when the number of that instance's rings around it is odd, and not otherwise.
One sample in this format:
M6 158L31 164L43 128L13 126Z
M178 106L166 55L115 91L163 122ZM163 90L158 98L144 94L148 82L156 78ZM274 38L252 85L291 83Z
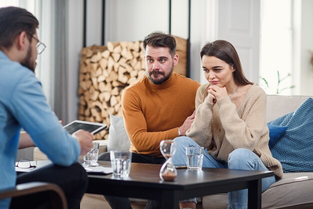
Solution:
M245 77L258 83L259 74L259 0L218 1L218 39L235 47Z

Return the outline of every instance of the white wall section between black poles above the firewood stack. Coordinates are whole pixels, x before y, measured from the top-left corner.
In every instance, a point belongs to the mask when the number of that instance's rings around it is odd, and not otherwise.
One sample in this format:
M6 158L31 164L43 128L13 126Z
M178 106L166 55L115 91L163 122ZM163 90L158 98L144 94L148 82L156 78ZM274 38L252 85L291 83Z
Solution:
M168 30L168 0L109 0L106 11L109 41L142 40L154 30Z

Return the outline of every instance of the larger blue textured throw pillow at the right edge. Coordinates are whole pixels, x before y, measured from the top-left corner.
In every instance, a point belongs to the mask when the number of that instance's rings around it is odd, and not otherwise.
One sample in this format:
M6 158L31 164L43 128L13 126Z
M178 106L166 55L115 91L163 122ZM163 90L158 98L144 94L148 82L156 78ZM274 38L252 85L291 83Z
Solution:
M306 99L294 112L270 122L287 126L279 140L270 148L284 172L313 171L313 99Z

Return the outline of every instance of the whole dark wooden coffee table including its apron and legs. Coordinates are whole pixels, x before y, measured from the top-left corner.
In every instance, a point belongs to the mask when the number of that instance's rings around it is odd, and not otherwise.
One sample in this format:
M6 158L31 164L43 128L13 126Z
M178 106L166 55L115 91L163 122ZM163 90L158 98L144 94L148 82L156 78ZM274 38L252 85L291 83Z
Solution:
M109 166L109 161L98 161ZM202 168L177 169L173 182L161 181L161 165L131 163L130 175L119 179L108 175L88 175L87 193L110 196L155 199L162 208L179 208L178 200L194 196L248 189L248 208L261 208L261 179L273 175L272 171Z

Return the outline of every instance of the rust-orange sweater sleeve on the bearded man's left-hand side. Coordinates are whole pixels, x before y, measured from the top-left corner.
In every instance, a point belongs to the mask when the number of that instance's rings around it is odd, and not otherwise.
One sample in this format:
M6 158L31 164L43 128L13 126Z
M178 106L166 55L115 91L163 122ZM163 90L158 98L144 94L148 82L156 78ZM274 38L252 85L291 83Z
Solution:
M141 109L141 101L136 92L124 89L121 98L125 129L131 145L136 152L159 155L159 143L164 139L178 136L178 127L157 132L148 132L145 117ZM157 111L157 110L156 110ZM155 150L154 152L151 150Z

